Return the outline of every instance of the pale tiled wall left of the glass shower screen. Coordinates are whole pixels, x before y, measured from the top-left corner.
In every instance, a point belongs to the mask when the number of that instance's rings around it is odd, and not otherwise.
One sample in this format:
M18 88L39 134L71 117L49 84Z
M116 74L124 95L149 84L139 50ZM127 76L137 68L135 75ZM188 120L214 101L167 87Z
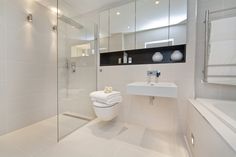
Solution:
M0 134L56 114L53 24L56 16L34 1L0 0Z

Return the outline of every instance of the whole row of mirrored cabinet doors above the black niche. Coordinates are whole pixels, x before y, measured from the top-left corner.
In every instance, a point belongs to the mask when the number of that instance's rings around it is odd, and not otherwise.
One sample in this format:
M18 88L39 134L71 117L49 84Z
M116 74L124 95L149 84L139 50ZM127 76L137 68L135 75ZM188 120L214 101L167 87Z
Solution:
M186 44L187 0L135 0L99 19L100 53Z

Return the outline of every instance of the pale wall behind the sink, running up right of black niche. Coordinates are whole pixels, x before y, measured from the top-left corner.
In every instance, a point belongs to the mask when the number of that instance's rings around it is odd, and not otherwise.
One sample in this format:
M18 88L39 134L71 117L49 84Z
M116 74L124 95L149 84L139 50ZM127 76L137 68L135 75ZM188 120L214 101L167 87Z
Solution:
M187 99L194 97L195 60L195 1L189 3L187 61L180 64L130 65L99 67L98 88L113 86L122 92L124 98L119 119L148 128L183 133L187 112ZM178 99L157 98L155 105L148 97L126 94L126 85L135 81L146 81L148 69L159 69L159 81L175 82L178 85ZM102 70L102 72L100 72Z

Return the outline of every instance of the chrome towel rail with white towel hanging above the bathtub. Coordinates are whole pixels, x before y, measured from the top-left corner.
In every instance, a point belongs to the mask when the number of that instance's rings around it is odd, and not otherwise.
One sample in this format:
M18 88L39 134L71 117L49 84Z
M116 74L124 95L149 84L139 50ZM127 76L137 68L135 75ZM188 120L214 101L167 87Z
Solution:
M236 9L206 13L204 80L236 85Z

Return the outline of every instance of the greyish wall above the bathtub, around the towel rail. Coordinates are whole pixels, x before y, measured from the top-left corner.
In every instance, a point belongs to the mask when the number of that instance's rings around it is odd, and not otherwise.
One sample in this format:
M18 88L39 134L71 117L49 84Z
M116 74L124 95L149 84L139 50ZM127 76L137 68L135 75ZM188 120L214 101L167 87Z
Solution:
M205 10L219 10L236 6L235 0L199 0L197 19L196 97L236 100L236 86L201 83L204 69Z

